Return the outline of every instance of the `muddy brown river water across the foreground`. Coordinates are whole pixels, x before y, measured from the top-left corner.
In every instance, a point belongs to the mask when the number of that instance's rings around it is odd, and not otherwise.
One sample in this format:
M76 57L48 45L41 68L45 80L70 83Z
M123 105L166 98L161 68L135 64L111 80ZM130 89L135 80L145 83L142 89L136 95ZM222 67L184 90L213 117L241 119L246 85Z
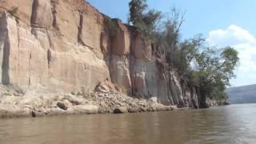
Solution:
M256 105L0 120L0 143L255 143Z

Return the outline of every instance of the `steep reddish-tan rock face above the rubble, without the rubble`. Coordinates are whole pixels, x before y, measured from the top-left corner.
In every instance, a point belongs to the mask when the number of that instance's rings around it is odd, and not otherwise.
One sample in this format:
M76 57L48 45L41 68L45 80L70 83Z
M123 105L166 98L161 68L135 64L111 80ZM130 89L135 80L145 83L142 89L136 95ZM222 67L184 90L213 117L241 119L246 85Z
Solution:
M83 0L3 0L0 17L2 85L86 94L107 80L114 86L98 88L198 108L196 88L162 70L153 42L119 20L111 35L108 17Z

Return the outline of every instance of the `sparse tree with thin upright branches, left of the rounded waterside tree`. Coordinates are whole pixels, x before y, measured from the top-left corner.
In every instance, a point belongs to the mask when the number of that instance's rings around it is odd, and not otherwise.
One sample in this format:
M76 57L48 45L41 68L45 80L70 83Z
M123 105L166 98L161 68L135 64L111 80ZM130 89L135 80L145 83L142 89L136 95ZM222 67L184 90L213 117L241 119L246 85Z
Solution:
M184 13L185 14L185 13ZM179 30L184 22L184 14L173 8L170 17L163 22L161 28L158 28L154 39L157 45L164 46L166 50L166 62L175 67L179 72L184 71L190 65L192 55L197 50L203 39L190 39L180 42Z

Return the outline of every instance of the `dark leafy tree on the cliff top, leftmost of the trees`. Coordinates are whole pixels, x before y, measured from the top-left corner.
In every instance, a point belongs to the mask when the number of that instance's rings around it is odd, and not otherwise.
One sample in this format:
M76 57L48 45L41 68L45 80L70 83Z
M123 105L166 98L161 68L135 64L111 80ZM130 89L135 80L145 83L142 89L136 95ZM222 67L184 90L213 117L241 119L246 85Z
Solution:
M161 12L148 10L146 0L131 0L129 7L130 16L128 23L130 24L130 22L132 22L137 30L144 34L144 36L152 38L156 25L162 17Z

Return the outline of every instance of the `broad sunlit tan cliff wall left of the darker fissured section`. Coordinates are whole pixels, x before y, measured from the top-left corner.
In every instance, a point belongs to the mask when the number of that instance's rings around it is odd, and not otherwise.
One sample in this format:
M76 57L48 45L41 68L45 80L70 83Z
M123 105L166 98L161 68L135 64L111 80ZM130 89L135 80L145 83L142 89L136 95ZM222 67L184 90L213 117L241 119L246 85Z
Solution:
M26 6L17 6L17 14L10 14L15 2L1 2L3 84L90 91L110 77L100 51L102 14L72 1L50 0L22 1Z

